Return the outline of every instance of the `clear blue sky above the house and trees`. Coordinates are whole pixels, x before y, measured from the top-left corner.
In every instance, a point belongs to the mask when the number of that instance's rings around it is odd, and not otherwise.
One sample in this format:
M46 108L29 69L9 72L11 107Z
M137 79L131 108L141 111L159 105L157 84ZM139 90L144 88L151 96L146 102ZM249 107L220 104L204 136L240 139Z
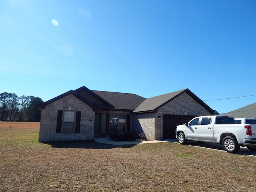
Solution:
M188 88L223 113L256 102L255 72L255 0L0 0L0 92Z

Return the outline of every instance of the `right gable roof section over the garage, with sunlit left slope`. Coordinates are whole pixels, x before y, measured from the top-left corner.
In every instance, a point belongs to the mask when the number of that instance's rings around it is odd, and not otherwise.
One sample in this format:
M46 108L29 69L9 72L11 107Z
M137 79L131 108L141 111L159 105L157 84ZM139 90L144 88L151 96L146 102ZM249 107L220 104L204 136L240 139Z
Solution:
M157 112L158 108L162 107L166 103L170 102L171 100L175 99L176 97L180 96L186 92L192 98L194 98L200 105L202 105L206 110L213 113L212 108L206 105L200 98L198 98L195 94L193 94L189 89L183 89L176 92L171 92L167 94L163 94L160 96L155 96L152 98L148 98L136 108L132 113L146 113L146 112Z

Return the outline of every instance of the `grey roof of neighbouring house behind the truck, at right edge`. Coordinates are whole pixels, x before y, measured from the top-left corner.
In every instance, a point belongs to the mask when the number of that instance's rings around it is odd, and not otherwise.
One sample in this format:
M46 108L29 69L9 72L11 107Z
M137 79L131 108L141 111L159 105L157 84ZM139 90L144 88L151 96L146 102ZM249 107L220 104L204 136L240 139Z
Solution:
M234 118L256 118L256 103L244 106L223 115L233 116Z

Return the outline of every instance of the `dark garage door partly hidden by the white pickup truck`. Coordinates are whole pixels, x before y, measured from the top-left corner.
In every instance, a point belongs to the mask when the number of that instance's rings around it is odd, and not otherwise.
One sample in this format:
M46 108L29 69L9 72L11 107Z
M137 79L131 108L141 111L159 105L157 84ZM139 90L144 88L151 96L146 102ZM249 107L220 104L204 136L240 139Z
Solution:
M174 139L176 126L189 122L196 116L163 114L163 138Z

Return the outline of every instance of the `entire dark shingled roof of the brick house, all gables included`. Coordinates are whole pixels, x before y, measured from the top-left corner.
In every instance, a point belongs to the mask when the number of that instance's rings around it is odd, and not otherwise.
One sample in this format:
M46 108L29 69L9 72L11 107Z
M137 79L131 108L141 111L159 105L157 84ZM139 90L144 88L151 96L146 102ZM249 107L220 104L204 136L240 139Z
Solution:
M162 107L166 103L170 102L174 98L180 96L186 92L199 104L201 104L210 113L213 113L212 108L206 105L200 98L193 94L188 89L183 89L180 91L163 94L160 96L155 96L152 98L144 98L136 94L129 93L119 93L119 92L107 92L107 91L92 91L85 86L82 86L76 90L70 90L60 96L57 96L51 100L48 100L38 106L39 109L44 109L44 107L68 94L74 95L76 98L80 99L82 102L88 104L93 108L94 111L99 109L104 110L122 110L130 111L132 113L145 113L145 112L157 112L158 108Z

